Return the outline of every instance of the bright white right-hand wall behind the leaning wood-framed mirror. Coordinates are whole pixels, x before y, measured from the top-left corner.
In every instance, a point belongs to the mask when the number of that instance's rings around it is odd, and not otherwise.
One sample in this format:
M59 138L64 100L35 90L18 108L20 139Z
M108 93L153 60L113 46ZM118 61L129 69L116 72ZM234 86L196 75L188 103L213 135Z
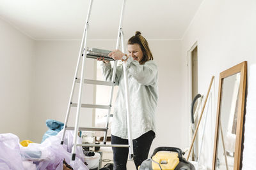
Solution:
M181 77L184 106L182 106L181 113L183 114L182 119L186 122L185 126L188 127L189 124L189 117L184 114L188 113L189 108L187 52L196 41L198 43L198 92L200 94L206 95L211 76L215 76L213 85L215 92L212 94L215 109L208 116L204 158L202 159L202 162L205 162L209 169L212 166L219 74L244 60L248 61L248 70L250 65L256 62L255 9L256 1L253 0L243 2L238 0L205 0L182 39Z

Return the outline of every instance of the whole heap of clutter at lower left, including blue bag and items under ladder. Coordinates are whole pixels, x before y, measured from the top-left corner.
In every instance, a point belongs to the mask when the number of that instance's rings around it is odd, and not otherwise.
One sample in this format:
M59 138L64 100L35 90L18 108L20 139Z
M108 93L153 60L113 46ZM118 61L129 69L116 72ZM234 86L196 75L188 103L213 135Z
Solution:
M63 123L46 120L49 130L45 132L42 143L24 140L19 143L15 134L0 134L0 170L98 170L102 155L99 147L77 147L76 160L71 161L74 131L66 131L64 143L60 145ZM81 132L83 143L95 142L93 132ZM82 143L82 138L77 138ZM112 170L113 164L104 166Z

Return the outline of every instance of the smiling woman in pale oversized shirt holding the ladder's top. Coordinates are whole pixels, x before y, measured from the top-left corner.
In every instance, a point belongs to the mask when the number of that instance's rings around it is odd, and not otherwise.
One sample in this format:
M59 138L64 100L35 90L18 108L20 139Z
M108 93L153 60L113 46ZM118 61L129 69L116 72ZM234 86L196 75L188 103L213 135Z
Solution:
M115 60L123 60L126 63L129 97L131 135L134 149L134 163L136 168L147 159L150 146L155 138L155 111L158 99L158 74L157 66L153 61L152 53L147 40L136 31L128 41L129 54L114 50L109 57ZM102 73L106 81L111 81L113 68L111 64L102 60ZM125 113L125 85L123 66L116 67L115 83L119 85L118 94L111 127L111 144L128 144L127 120ZM128 148L113 147L114 169L125 170Z

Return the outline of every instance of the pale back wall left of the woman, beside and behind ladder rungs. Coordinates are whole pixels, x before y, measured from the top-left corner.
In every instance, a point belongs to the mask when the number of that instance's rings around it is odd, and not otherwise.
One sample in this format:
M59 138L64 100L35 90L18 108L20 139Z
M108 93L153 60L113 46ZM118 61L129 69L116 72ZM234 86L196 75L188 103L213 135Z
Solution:
M34 100L31 113L35 121L30 136L36 142L40 142L44 132L47 131L45 120L65 121L79 48L79 41L36 41L35 67L33 68ZM86 62L84 78L93 79L95 76L93 69L95 69L95 62L93 60ZM77 77L80 78L80 74ZM73 103L77 103L78 89L79 85L76 83ZM92 85L84 86L82 103L93 104L94 92ZM74 127L75 118L76 108L72 108L68 125ZM92 109L82 108L80 119L81 126L92 126Z

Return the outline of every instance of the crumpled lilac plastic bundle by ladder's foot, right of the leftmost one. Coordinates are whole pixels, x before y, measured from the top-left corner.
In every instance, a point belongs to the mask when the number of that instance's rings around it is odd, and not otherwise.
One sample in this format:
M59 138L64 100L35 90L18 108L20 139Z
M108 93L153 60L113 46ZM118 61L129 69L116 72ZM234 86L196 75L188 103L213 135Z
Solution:
M36 164L36 170L62 170L63 160L70 164L74 169L89 170L85 166L84 154L81 147L76 148L76 160L70 162L72 141L74 137L73 131L66 131L64 144L60 145L61 131L57 136L51 136L41 144L29 143L28 147L21 147L20 153L23 160L33 160ZM77 143L81 143L81 139L77 138ZM40 156L39 156L40 155Z

